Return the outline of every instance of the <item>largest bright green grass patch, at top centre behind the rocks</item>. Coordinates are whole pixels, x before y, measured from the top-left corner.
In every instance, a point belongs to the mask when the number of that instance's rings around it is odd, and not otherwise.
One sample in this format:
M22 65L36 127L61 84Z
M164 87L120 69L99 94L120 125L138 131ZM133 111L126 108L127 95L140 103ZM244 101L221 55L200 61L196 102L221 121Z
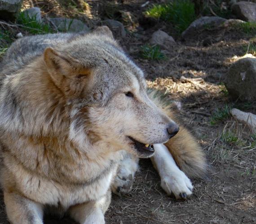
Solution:
M194 3L190 0L174 0L165 4L154 4L145 14L148 17L172 22L180 33L195 20Z

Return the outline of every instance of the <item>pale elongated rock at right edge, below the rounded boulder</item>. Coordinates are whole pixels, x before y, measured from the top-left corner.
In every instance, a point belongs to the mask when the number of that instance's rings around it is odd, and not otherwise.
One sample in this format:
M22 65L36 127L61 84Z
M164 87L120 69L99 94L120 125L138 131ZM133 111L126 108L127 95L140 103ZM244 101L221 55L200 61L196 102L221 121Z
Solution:
M248 127L256 133L256 115L255 114L243 112L236 108L231 110L231 114L238 121L246 123Z

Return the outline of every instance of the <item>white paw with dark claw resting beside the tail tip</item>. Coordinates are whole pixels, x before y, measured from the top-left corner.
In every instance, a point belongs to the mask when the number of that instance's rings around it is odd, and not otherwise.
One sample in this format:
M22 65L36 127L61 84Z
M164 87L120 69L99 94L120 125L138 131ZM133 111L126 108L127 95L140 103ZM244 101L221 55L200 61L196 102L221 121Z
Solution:
M193 190L190 179L181 170L161 178L161 187L168 195L173 193L176 199L186 199Z

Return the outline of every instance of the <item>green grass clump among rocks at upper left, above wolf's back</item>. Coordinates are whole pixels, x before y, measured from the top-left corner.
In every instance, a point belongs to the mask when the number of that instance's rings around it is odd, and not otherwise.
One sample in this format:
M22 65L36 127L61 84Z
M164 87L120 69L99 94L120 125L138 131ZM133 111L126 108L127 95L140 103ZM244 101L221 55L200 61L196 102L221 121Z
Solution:
M49 24L40 23L36 21L36 16L29 17L26 12L21 12L18 15L17 23L22 25L22 29L30 34L48 34L53 33L53 29Z

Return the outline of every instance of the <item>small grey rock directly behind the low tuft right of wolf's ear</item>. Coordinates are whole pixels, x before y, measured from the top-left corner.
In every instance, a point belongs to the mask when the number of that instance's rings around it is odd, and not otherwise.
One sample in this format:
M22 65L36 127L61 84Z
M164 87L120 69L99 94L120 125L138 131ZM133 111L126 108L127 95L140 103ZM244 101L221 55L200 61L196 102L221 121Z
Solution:
M158 44L165 49L170 49L176 42L175 40L162 30L157 30L152 34L150 43Z

